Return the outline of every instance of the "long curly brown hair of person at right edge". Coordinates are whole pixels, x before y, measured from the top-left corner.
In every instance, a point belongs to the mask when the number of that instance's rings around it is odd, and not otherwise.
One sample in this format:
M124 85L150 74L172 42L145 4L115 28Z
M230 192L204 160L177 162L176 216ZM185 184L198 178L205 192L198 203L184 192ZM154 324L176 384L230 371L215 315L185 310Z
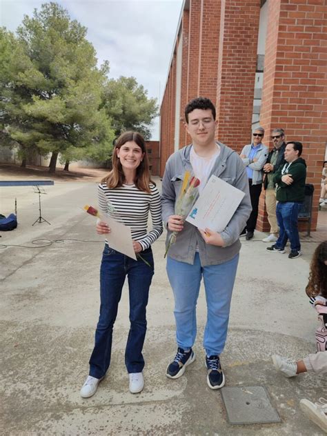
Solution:
M327 241L321 242L313 253L310 264L310 274L306 294L309 297L322 295L327 298Z

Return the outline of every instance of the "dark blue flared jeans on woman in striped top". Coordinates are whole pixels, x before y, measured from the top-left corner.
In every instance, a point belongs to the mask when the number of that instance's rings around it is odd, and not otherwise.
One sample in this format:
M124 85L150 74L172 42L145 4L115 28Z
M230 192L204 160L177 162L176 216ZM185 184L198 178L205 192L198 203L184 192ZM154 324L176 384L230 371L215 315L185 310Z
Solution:
M100 268L100 315L95 330L95 348L90 357L90 375L100 379L110 365L112 328L114 326L121 290L128 277L130 295L130 332L128 334L125 364L128 373L141 373L144 367L142 348L146 337L146 305L154 274L151 248L140 255L145 259L135 261L107 245L103 250Z

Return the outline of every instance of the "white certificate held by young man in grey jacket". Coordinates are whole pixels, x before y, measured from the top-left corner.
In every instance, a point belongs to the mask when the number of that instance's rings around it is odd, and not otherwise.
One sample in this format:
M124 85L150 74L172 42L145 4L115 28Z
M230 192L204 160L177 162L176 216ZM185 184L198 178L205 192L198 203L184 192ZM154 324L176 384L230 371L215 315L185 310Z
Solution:
M201 230L222 232L241 203L244 192L212 175L186 221Z

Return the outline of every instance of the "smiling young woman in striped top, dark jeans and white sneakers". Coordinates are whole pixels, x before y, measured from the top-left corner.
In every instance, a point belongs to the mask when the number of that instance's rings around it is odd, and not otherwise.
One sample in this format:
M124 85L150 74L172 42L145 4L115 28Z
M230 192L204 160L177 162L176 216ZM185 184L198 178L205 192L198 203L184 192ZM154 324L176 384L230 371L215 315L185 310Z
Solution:
M130 377L130 392L143 389L142 348L146 336L146 305L154 273L151 244L161 235L161 203L155 184L150 179L146 144L138 132L125 132L116 142L112 154L112 171L98 188L99 208L114 210L132 230L137 261L112 250L106 241L100 268L100 315L95 331L95 348L90 357L90 373L81 388L81 397L91 397L110 365L112 328L117 317L123 283L128 277L130 300L130 332L125 351L125 364ZM148 213L152 230L147 232ZM97 233L104 235L110 228L103 221Z

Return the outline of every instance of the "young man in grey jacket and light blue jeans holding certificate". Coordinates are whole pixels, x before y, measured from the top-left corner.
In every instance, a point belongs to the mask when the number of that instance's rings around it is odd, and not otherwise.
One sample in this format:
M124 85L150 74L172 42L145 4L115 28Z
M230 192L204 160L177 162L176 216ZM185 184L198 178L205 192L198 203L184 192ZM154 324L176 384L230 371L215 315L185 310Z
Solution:
M178 150L167 161L162 184L163 219L171 232L179 232L170 246L167 273L175 297L177 354L168 365L166 375L177 379L195 360L192 346L197 335L196 306L202 277L208 308L204 331L207 383L212 389L224 386L225 377L219 355L224 350L232 288L239 260L239 234L250 216L251 202L248 177L237 153L215 141L217 126L215 106L199 97L185 109L186 129L192 143ZM175 215L175 203L186 170L200 180L199 190L215 175L245 192L228 226L221 233L206 233Z

